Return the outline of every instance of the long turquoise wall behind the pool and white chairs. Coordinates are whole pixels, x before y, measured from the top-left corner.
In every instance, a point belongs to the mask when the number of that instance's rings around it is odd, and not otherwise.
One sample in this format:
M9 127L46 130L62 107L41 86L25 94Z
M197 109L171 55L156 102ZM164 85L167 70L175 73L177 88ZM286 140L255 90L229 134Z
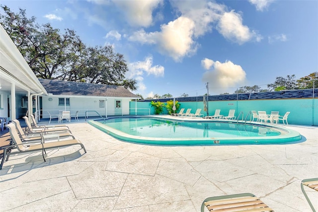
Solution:
M210 97L209 97L210 98ZM202 99L202 98L201 98ZM167 99L168 101L170 99ZM156 100L155 100L156 101ZM159 100L166 104L166 101ZM203 101L181 102L178 99L181 108L191 108L191 112L194 113L197 108L202 108L201 113L207 115L207 112L203 110ZM130 103L131 115L135 115L135 102ZM284 115L287 111L290 111L288 116L289 124L318 126L318 98L302 98L302 99L273 99L273 100L231 100L231 101L210 101L208 102L209 115L213 115L215 109L221 109L221 115L228 115L230 109L235 109L235 115L238 116L239 112L243 112L243 119L250 110L262 110L270 114L271 111L279 111L280 115ZM155 114L154 107L150 105L150 102L137 102L137 115L145 115L145 112L139 110L139 108L149 108L151 114ZM176 111L178 112L178 111ZM168 114L164 108L162 114ZM242 119L242 116L239 116ZM246 120L250 120L247 117Z

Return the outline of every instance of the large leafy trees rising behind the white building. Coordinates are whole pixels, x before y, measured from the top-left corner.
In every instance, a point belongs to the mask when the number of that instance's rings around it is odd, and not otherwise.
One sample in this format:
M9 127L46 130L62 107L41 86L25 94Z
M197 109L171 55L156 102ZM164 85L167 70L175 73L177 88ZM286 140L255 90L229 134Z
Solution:
M137 81L126 79L126 61L111 46L88 47L76 32L61 34L50 23L39 25L24 9L0 6L0 23L38 78L119 85L136 90Z

